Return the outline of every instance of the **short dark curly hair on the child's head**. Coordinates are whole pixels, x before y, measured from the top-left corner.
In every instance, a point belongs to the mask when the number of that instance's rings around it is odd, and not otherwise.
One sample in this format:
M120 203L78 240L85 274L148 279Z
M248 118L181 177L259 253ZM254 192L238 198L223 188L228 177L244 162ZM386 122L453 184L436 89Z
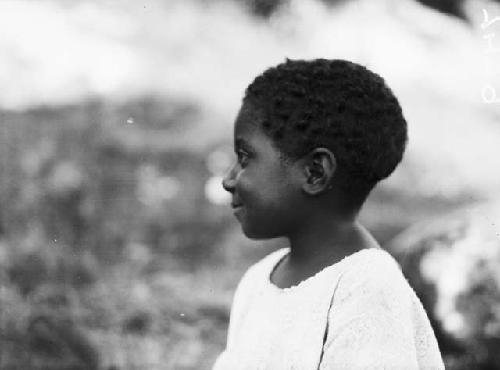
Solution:
M285 160L330 149L343 187L362 201L394 171L408 141L384 79L346 60L286 59L255 78L246 102L263 114L262 127Z

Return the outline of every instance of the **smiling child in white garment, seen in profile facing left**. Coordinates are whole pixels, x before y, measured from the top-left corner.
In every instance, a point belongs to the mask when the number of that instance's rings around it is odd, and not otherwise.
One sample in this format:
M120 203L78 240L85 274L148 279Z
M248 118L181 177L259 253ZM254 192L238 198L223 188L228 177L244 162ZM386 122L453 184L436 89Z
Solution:
M384 80L344 60L286 60L247 88L223 186L251 239L286 237L250 267L214 370L444 369L423 306L357 221L406 146Z

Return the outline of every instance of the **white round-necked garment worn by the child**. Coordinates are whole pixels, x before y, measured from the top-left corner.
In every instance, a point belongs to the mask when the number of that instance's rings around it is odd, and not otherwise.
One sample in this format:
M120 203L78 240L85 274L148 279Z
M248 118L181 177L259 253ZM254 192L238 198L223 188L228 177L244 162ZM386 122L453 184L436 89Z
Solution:
M289 251L243 275L213 370L444 369L422 303L389 253L363 249L281 289L270 276Z

